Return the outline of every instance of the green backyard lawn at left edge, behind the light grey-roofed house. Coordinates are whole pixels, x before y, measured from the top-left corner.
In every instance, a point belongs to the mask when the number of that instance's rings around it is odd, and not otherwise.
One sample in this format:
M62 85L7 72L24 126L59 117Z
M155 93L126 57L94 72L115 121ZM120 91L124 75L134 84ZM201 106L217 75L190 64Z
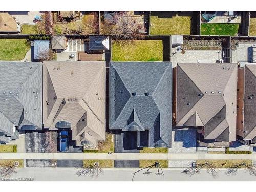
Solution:
M0 39L0 60L22 60L29 49L27 39Z

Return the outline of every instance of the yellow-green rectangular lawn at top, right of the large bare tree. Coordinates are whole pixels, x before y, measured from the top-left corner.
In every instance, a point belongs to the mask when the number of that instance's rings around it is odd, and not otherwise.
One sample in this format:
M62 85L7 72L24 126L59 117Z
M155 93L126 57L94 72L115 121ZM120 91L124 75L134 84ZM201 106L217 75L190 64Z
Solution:
M158 12L150 16L151 35L187 34L191 33L191 17Z

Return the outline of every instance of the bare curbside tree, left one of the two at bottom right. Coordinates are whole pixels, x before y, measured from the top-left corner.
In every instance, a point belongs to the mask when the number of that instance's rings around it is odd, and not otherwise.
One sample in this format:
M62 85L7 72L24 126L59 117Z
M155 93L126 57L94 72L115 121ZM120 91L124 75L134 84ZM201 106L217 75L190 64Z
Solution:
M186 170L183 170L182 173L185 173L188 176L193 176L194 174L200 174L201 169L206 169L207 173L212 177L216 178L218 176L218 169L215 167L213 163L204 162L203 164L197 164L195 166L191 166Z

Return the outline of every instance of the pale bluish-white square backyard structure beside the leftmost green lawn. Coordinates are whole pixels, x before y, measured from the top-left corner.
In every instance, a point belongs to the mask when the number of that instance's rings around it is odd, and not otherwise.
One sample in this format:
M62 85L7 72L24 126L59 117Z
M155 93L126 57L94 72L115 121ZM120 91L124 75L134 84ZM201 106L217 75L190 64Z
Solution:
M32 60L47 59L50 54L49 40L34 40L31 44Z

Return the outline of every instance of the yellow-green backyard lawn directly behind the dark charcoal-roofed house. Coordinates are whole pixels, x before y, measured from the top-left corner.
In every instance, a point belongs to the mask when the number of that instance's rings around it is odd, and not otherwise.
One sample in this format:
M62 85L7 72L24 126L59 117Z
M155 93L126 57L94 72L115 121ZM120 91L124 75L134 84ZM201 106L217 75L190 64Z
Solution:
M112 61L163 61L161 40L134 40L128 44L114 41Z

